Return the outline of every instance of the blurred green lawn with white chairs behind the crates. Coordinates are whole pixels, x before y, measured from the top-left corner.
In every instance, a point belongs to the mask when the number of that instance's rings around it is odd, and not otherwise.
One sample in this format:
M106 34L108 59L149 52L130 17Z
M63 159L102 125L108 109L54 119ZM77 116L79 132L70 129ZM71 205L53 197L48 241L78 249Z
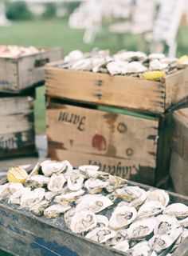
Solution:
M0 44L94 47L187 54L184 0L0 0ZM36 131L45 132L45 88L37 89Z

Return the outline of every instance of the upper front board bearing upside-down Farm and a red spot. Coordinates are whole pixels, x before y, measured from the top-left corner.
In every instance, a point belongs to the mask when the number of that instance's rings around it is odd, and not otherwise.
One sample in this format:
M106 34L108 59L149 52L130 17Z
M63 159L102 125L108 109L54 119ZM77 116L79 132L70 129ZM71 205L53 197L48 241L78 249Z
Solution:
M47 110L46 116L48 141L57 148L132 159L155 167L159 119L148 120L78 106L56 107L58 109Z

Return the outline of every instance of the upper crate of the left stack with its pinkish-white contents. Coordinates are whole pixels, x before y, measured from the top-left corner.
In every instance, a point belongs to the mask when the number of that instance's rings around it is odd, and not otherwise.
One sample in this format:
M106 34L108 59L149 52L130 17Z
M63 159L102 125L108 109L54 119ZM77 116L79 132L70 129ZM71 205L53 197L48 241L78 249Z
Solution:
M0 92L20 93L43 83L45 64L61 58L58 48L0 46Z

